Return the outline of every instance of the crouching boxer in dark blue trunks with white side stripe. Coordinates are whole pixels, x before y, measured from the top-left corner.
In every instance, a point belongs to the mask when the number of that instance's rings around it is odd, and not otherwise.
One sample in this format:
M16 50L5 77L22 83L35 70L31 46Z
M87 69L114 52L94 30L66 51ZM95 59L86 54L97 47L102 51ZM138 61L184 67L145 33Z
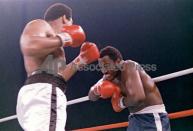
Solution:
M170 131L170 123L161 94L152 78L132 60L107 46L98 60L103 73L89 91L91 101L111 98L114 111L130 111L127 131Z

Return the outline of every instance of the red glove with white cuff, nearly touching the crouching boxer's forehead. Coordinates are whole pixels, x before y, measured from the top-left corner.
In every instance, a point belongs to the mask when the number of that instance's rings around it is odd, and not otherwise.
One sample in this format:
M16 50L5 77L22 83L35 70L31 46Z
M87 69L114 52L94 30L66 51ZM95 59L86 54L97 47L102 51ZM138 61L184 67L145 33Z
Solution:
M78 67L96 61L100 56L99 50L94 43L85 42L80 48L80 54L73 61Z

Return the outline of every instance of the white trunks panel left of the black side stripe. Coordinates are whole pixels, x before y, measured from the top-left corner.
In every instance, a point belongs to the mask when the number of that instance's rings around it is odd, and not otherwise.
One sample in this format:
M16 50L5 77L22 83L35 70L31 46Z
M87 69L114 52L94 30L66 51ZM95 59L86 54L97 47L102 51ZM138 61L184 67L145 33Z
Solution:
M17 117L25 131L49 131L52 85L36 83L21 88Z

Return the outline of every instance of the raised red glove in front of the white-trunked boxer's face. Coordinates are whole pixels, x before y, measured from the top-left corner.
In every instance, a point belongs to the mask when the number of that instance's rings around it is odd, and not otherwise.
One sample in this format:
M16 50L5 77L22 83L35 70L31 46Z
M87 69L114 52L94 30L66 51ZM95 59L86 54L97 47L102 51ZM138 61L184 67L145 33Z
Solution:
M79 25L64 26L62 32L68 33L72 38L72 41L66 42L65 46L78 47L86 40L84 30Z

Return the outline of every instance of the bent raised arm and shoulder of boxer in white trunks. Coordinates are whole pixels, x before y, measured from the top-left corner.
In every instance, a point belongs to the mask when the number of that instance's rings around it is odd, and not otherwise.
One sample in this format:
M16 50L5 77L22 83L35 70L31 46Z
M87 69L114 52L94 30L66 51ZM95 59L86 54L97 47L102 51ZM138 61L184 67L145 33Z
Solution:
M51 26L43 20L35 20L26 25L20 39L25 55L44 56L61 46Z

